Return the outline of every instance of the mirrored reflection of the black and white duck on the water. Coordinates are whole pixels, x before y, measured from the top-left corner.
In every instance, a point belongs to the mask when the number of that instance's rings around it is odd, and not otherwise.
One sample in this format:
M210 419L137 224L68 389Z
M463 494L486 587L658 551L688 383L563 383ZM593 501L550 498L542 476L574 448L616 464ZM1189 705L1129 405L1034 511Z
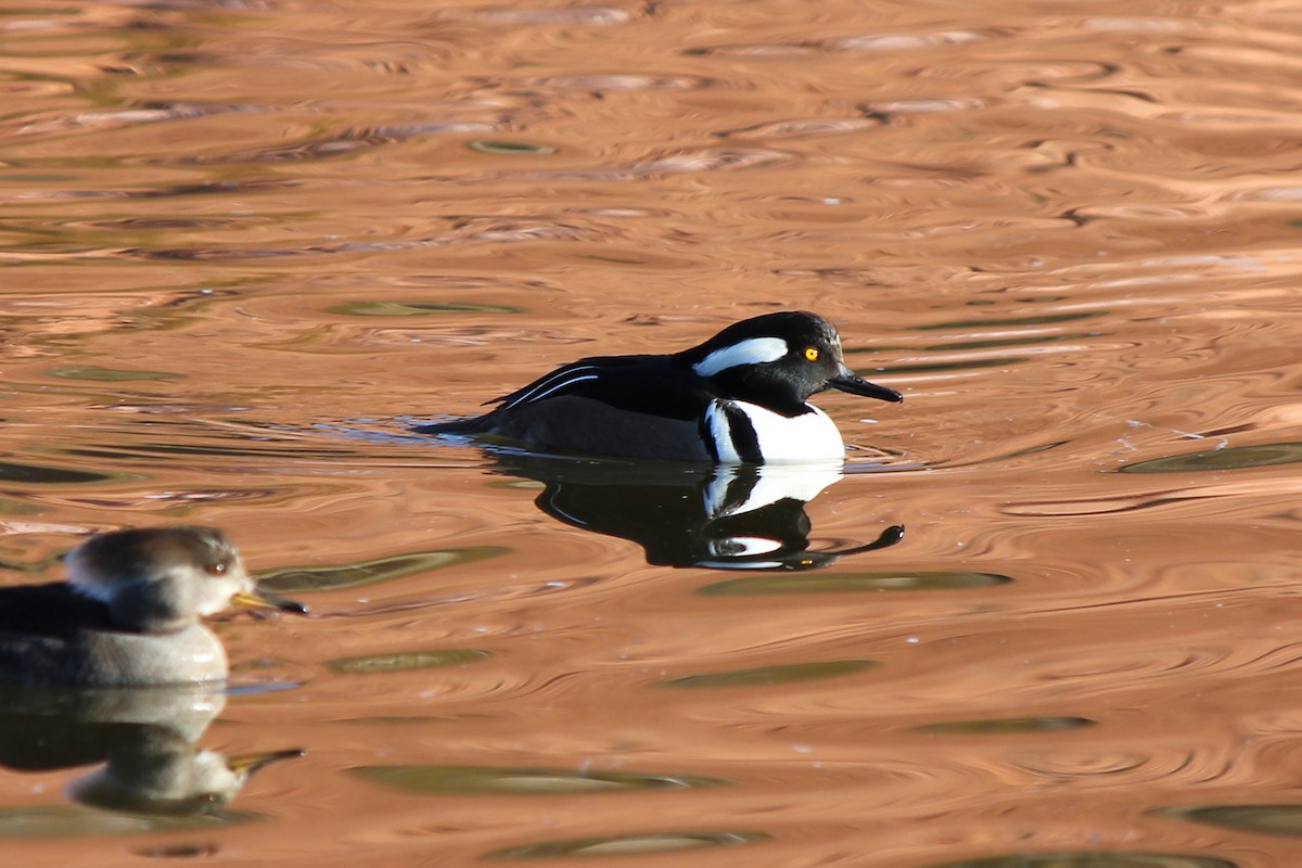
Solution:
M535 504L595 534L631 540L648 563L720 570L812 570L900 541L893 526L868 543L811 548L805 505L841 479L807 465L684 466L499 455L497 470L535 479Z

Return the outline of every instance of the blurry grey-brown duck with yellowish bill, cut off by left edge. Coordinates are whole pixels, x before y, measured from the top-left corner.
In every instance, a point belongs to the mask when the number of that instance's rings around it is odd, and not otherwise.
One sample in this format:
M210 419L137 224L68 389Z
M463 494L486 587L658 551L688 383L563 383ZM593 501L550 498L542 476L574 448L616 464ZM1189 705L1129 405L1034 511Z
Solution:
M141 687L223 681L227 652L199 622L229 604L306 613L258 591L211 527L99 534L68 582L0 588L0 681Z

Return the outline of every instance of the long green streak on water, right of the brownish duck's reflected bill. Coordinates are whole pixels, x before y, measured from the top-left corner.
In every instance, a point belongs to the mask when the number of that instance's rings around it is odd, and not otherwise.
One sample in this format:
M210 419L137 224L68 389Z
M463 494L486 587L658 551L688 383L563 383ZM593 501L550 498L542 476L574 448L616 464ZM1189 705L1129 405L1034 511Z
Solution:
M488 765L363 765L349 769L372 783L428 795L449 793L574 794L721 786L706 777L579 772L575 769L493 768Z

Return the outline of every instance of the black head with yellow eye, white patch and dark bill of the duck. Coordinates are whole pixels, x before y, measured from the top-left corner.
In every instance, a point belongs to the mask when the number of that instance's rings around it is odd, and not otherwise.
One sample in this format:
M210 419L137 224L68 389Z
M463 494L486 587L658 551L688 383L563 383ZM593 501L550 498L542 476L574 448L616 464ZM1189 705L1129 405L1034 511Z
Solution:
M841 338L822 316L805 311L766 314L733 323L677 357L724 398L758 403L785 416L806 413L815 392L840 389L880 401L904 401L845 367Z

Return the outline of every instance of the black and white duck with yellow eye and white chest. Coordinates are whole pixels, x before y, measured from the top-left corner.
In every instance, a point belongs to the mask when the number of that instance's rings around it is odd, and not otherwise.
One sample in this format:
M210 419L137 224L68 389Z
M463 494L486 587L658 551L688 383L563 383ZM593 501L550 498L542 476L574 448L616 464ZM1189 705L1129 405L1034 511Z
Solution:
M845 366L831 323L784 311L734 323L672 355L579 359L495 398L492 413L415 431L633 458L842 461L841 432L806 403L828 388L904 401Z

